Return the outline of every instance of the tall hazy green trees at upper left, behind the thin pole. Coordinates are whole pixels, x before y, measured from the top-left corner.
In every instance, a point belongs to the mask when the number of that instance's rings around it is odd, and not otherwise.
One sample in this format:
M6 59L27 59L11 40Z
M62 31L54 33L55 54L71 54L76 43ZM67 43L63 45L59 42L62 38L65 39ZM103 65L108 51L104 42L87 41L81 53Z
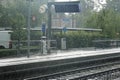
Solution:
M39 13L39 8L47 0L31 2L31 27L40 26L45 14ZM35 20L32 17L35 16ZM0 3L0 27L12 28L12 39L26 39L26 31L28 18L28 2L26 0L3 0Z

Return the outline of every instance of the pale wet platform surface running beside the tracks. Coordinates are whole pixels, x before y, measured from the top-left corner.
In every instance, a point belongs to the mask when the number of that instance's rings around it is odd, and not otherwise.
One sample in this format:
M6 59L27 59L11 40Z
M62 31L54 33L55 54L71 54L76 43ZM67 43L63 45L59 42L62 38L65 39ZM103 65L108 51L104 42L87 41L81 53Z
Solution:
M99 49L99 50L70 50L70 51L58 51L57 53L43 56L30 56L20 57L20 58L8 58L0 59L0 67L30 64L37 62L47 62L62 59L72 59L72 58L82 58L89 56L99 56L99 55L109 55L109 54L119 54L120 48L113 49Z

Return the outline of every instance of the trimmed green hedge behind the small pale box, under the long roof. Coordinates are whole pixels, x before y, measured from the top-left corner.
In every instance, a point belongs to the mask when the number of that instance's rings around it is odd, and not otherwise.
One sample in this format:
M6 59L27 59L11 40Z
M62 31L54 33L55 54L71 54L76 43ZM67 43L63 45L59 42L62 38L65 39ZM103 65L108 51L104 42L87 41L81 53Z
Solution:
M60 48L60 39L66 38L67 48L83 48L93 47L93 40L101 38L102 35L99 32L85 32L85 31L68 31L65 34L54 34L54 38L57 39L58 48Z

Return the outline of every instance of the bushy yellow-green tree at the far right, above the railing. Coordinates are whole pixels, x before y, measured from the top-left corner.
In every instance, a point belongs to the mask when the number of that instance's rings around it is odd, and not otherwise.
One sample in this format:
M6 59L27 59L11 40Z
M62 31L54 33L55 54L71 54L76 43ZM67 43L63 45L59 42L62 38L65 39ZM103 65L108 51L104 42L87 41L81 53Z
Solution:
M94 28L101 28L102 34L106 38L117 38L116 34L120 29L120 15L113 9L103 9L100 12L92 14L86 25Z

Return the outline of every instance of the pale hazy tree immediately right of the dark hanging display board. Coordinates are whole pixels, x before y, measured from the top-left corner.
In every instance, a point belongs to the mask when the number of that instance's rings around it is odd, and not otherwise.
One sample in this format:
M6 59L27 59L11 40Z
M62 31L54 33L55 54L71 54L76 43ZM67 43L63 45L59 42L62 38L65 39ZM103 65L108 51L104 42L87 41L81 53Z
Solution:
M80 13L75 15L77 27L90 27L86 25L87 19L94 14L94 2L92 0L80 0Z

